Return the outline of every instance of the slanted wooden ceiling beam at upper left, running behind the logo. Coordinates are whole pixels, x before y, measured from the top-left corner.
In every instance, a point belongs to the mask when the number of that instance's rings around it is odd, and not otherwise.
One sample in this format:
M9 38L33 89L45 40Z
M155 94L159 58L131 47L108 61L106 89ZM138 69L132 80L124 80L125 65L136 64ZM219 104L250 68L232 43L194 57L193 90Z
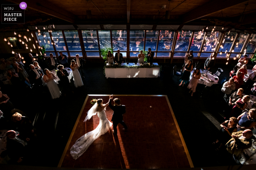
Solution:
M20 4L20 0L7 0L9 2ZM68 21L70 23L75 23L76 16L71 12L64 10L63 8L57 7L55 4L49 1L41 0L26 0L27 8L46 13L48 15L54 16L56 18Z

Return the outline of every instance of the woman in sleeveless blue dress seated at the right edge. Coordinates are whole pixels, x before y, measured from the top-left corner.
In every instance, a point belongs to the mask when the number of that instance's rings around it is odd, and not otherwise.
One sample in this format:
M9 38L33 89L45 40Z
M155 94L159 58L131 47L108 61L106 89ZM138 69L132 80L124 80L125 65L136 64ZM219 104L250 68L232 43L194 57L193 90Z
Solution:
M253 126L256 125L256 109L252 108L249 112L244 112L237 118L239 120L237 124L237 130L250 129L253 130Z

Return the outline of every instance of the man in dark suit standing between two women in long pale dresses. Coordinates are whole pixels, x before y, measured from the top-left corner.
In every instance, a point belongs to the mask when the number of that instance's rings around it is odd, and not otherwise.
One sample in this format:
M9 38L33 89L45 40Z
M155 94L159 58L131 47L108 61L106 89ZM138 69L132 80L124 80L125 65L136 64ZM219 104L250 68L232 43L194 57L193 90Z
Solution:
M64 96L69 91L70 83L68 79L68 71L63 68L63 65L58 66L57 76L60 79L59 84L63 87Z

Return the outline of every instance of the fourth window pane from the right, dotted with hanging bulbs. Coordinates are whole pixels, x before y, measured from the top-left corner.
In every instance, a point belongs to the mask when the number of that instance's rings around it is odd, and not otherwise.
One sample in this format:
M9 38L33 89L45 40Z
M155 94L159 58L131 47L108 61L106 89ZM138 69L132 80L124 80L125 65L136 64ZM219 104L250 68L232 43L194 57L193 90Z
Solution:
M208 32L205 43L204 43L203 50L208 51L208 52L214 51L214 48L216 48L216 46L217 46L217 42L218 42L220 35L221 35L221 33L217 32L217 31Z

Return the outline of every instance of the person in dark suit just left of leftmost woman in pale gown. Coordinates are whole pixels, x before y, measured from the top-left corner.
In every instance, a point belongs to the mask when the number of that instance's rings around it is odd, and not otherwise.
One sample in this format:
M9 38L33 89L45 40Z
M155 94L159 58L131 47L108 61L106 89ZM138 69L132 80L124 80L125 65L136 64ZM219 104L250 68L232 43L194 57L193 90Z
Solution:
M29 81L30 84L35 84L35 86L42 86L42 75L43 73L34 65L30 64L31 70L29 71Z

